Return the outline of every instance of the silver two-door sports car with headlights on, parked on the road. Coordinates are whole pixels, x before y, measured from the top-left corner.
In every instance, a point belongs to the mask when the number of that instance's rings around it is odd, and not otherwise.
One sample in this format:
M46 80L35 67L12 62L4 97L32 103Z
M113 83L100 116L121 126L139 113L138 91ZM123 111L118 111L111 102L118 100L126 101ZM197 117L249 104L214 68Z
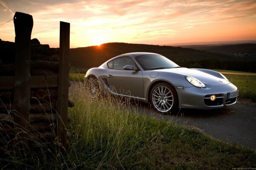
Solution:
M150 102L160 113L222 108L235 104L239 96L238 88L219 72L182 68L160 54L145 52L113 57L88 70L84 82L90 82L91 97L102 85L113 95Z

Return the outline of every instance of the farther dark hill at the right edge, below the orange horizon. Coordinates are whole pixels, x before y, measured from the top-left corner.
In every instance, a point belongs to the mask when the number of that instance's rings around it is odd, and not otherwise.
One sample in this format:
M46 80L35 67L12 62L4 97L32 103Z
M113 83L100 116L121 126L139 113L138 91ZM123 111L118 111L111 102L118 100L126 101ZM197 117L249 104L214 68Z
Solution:
M213 53L226 54L241 59L256 60L256 44L236 44L236 45L185 45L183 48L192 48Z

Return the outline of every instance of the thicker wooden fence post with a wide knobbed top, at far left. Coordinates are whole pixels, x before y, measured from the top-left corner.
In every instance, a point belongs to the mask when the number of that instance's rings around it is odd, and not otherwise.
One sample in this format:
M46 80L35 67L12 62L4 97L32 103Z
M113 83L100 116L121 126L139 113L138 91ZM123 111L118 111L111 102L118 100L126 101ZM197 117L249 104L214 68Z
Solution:
M30 112L30 39L33 28L33 18L29 14L16 12L15 25L15 78L13 106L14 126L17 132L15 144L27 146L27 122ZM21 145L20 145L21 146Z

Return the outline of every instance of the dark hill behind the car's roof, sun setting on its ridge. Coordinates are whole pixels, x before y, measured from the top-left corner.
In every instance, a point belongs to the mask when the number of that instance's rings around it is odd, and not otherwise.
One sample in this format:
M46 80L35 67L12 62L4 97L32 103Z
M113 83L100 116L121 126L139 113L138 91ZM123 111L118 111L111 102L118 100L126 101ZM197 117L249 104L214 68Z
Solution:
M161 45L130 44L121 42L105 43L100 46L90 46L70 49L71 65L76 67L98 67L103 62L120 54L130 52L152 52L183 64L186 61L201 59L227 60L233 59L226 54L217 54L192 48L181 48ZM188 66L188 65L185 65Z

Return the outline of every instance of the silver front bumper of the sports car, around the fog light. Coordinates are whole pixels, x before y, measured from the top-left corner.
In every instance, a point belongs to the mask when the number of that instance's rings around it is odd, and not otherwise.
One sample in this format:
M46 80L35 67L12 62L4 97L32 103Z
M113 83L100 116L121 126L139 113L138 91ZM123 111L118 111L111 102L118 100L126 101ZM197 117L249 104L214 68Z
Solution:
M179 108L212 109L233 105L237 97L227 99L227 93L237 91L238 88L232 83L218 86L207 86L207 88L177 88L179 97ZM209 96L215 95L215 101L211 101Z

